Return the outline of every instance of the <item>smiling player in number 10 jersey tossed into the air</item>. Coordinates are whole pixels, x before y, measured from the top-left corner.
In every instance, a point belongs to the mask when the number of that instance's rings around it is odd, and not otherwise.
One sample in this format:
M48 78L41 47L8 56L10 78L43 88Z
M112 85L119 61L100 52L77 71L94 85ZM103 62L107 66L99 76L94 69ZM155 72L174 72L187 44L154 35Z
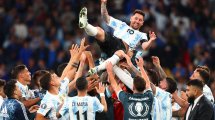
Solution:
M104 53L107 54L109 59L115 65L120 59L115 54L116 51L122 50L127 53L133 51L139 43L142 43L142 49L149 49L152 42L156 39L154 32L149 32L150 39L148 40L147 34L140 32L140 27L143 26L145 14L141 10L135 10L130 18L130 25L125 22L117 20L109 16L106 8L107 0L101 0L101 14L108 26L114 29L114 33L110 34L105 32L100 27L94 27L87 22L87 8L84 7L79 13L79 27L83 28L89 36L94 36L97 43ZM105 69L106 62L97 66L89 71L89 74L97 73Z

